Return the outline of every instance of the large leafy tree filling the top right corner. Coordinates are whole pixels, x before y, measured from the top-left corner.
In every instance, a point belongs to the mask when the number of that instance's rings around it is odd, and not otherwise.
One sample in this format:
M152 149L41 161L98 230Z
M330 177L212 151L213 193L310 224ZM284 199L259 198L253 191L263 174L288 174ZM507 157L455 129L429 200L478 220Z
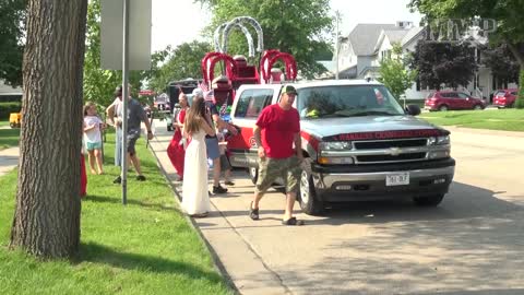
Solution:
M505 44L520 64L519 101L522 102L516 105L524 107L523 0L412 0L409 7L424 13L428 20L481 17L497 21L496 31L489 33L489 40Z

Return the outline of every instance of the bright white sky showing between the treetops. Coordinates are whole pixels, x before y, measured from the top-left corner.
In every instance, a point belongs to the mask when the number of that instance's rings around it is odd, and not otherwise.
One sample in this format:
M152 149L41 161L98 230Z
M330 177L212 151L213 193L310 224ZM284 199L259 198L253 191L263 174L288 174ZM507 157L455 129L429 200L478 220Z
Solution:
M193 0L152 0L152 51L170 45L201 39L202 30L210 23L211 13ZM264 0L261 0L264 1ZM332 15L340 11L342 35L347 35L359 23L420 22L420 14L410 13L409 0L331 0Z

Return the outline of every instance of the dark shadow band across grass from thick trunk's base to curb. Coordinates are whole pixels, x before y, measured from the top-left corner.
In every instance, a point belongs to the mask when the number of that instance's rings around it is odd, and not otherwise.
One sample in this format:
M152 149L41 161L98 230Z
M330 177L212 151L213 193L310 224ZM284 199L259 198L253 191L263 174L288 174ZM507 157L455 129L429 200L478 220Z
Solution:
M206 280L214 284L223 282L218 273L205 271L194 264L146 255L121 252L95 243L81 244L80 256L73 260L73 263L84 261L126 270L181 274L188 279Z

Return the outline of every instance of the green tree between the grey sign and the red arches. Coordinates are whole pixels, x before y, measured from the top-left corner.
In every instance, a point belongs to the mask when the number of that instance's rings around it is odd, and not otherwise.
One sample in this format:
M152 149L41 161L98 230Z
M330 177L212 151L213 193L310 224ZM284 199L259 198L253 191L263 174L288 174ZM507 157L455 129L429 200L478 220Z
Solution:
M210 44L201 42L184 43L175 50L169 50L165 56L167 61L156 70L155 75L148 81L150 88L162 93L166 91L170 81L202 78L200 62L211 50Z

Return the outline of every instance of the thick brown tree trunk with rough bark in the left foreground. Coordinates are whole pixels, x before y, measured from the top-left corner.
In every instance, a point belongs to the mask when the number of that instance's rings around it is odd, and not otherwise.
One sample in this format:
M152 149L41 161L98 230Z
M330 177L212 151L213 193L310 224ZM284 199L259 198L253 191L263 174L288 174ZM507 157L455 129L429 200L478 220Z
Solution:
M87 0L29 0L11 248L71 257L80 244Z

